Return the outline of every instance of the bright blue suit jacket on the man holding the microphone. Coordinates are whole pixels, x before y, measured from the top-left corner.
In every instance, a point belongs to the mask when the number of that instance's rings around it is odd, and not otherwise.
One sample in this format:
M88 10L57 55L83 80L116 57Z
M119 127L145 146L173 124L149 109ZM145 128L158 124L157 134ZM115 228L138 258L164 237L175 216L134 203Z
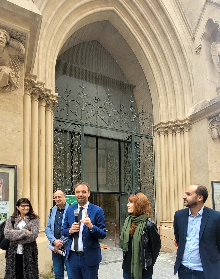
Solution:
M77 207L78 204L72 205L67 210L64 224L62 227L63 236L69 236L69 229L71 225L75 222L74 210L77 209ZM86 225L83 226L82 237L84 257L88 266L95 266L99 264L102 259L99 239L104 239L106 236L105 215L101 207L92 203L89 203L89 206L87 208L87 214L91 219L93 229L92 231L90 231ZM74 234L70 235L70 240L67 248L67 258L69 256L69 250L73 241L73 236Z

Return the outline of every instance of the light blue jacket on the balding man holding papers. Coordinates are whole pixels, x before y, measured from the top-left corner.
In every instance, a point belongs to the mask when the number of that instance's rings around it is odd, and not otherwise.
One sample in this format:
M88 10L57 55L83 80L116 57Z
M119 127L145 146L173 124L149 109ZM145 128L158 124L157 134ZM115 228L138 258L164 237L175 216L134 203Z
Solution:
M66 203L66 206L65 206L65 209L64 209L64 212L63 212L63 219L62 219L62 225L64 223L64 218L65 218L65 215L66 215L66 212L67 212L67 208L69 207L69 204ZM49 239L49 242L52 244L54 240L56 240L56 238L54 237L54 223L55 223L55 216L56 216L56 213L57 213L57 205L55 205L53 208L52 208L52 212L51 212L51 215L49 213L48 215L48 220L47 220L47 226L45 228L45 234L47 236L47 238ZM63 246L64 249L67 249L67 244L65 244Z

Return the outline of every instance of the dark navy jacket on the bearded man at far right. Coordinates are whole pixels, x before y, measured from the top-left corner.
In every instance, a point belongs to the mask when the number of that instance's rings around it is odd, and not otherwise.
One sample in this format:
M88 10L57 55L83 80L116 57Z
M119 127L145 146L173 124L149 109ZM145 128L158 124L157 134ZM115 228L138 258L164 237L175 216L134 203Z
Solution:
M185 249L189 208L178 210L173 228L178 245L174 275L177 273ZM220 212L209 207L203 209L199 231L199 254L206 279L220 278Z

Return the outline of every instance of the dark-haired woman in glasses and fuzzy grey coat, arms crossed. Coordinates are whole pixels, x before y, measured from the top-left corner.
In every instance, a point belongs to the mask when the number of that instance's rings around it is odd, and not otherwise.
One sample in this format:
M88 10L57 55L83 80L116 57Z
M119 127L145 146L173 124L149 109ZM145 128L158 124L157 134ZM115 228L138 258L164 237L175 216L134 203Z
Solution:
M5 238L10 240L6 251L5 279L38 279L38 252L36 238L39 217L34 213L29 199L17 201L14 227L11 217L6 221Z

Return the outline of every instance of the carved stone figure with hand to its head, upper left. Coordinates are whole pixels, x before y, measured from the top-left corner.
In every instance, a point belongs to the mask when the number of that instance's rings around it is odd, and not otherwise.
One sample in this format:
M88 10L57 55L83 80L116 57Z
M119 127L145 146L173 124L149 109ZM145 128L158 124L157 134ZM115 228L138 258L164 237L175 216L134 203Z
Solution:
M8 31L0 28L0 88L3 88L3 91L11 92L19 88L19 56L24 53L23 44L11 38Z

